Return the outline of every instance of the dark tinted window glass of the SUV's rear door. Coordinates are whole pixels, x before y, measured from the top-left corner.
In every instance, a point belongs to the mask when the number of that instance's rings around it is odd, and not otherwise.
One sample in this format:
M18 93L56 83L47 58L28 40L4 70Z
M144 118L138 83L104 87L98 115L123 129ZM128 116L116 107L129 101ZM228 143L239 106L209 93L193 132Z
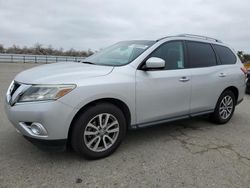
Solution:
M210 44L187 41L189 68L216 65L216 56Z

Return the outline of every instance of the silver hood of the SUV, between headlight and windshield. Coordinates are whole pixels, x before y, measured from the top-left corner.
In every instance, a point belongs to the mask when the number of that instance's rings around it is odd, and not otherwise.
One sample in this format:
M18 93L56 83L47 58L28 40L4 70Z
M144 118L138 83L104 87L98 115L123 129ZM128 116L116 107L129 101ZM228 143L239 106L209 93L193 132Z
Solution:
M34 67L19 73L15 80L26 84L76 83L90 77L104 76L113 67L75 62L62 62Z

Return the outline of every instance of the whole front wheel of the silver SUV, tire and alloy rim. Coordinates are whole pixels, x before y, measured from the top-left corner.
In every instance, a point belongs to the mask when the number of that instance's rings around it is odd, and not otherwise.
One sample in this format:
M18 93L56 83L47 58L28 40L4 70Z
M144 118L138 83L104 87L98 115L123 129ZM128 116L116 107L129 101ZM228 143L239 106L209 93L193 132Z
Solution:
M99 103L77 117L73 124L71 145L85 158L107 157L121 144L126 130L123 112L113 104Z

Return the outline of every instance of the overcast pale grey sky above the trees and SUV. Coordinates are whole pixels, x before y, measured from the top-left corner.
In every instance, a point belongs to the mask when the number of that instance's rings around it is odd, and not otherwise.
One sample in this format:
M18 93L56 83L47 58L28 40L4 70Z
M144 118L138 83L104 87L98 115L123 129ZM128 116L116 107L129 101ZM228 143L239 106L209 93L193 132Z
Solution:
M249 0L0 0L0 44L98 50L180 33L250 53Z

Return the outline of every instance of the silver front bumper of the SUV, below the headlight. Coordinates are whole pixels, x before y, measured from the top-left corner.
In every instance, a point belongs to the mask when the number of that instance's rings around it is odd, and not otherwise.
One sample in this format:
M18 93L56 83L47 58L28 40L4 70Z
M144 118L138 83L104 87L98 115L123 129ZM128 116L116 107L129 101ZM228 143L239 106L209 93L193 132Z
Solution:
M10 106L6 100L5 112L14 127L25 137L41 141L66 140L73 119L73 108L60 101L16 103ZM30 134L22 123L40 123L46 136Z

